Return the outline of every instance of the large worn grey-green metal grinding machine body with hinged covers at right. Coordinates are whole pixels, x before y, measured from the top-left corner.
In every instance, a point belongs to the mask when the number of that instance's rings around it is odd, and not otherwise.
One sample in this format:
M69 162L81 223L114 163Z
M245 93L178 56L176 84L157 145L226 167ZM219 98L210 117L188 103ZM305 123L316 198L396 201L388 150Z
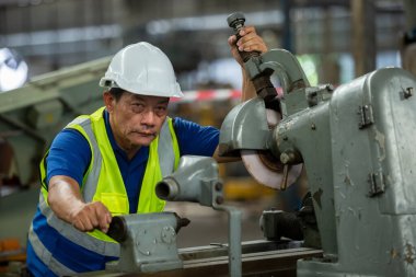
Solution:
M280 62L274 57L265 54L263 64ZM289 77L289 83L299 81L286 65L274 68L285 71L278 73ZM258 99L226 118L222 149L250 146L247 137L230 130L261 134L259 142L251 141L253 149L269 151L284 164L305 166L323 257L299 261L298 276L415 276L414 88L415 76L385 68L336 90L285 90L282 119L268 135L262 124L240 120L257 115L267 122Z

